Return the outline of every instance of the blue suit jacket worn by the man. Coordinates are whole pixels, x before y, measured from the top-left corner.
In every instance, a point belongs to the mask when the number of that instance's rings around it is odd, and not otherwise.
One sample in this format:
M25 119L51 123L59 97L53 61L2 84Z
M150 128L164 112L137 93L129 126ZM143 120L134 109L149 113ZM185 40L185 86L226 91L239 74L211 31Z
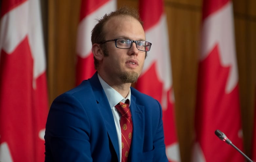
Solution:
M133 138L129 161L168 162L160 103L131 87ZM97 73L52 103L45 162L118 162L117 131Z

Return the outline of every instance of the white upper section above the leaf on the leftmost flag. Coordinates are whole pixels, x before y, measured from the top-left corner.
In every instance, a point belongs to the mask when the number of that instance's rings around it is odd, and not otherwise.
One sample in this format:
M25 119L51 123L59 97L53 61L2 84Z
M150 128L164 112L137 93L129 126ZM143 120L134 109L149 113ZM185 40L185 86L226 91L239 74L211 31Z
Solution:
M1 20L0 47L11 54L16 47L29 38L32 57L34 58L33 78L36 79L46 69L39 3L29 0L5 14ZM33 14L29 14L29 13Z

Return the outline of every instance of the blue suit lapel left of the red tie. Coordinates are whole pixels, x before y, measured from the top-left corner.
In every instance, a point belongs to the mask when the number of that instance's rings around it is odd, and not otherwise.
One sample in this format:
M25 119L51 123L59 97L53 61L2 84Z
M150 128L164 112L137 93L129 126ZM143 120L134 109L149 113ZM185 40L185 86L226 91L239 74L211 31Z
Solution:
M93 89L96 101L98 103L98 107L99 107L101 116L104 117L105 126L107 129L109 138L114 146L114 149L117 153L117 157L119 159L120 157L119 157L117 130L116 130L113 113L112 113L111 107L109 105L107 96L99 82L97 72L94 74L94 76L89 81L92 85L92 89Z

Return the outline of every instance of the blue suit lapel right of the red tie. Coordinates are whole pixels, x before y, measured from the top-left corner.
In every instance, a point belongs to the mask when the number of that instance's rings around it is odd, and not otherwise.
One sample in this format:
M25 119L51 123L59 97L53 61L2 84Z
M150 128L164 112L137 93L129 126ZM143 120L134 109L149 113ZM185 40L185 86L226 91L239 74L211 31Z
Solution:
M144 141L144 130L145 130L145 114L144 106L136 104L136 98L131 96L131 106L130 110L132 113L133 121L133 137L132 145L130 150L130 161L136 161L133 157L137 157L137 153L140 153L143 150L143 141Z

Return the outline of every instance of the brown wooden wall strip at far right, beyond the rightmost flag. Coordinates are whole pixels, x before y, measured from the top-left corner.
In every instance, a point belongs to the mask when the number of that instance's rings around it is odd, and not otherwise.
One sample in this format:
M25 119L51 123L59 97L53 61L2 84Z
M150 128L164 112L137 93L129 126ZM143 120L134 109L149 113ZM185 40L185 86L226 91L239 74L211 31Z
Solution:
M256 1L234 0L235 37L245 153L251 154L256 92Z

